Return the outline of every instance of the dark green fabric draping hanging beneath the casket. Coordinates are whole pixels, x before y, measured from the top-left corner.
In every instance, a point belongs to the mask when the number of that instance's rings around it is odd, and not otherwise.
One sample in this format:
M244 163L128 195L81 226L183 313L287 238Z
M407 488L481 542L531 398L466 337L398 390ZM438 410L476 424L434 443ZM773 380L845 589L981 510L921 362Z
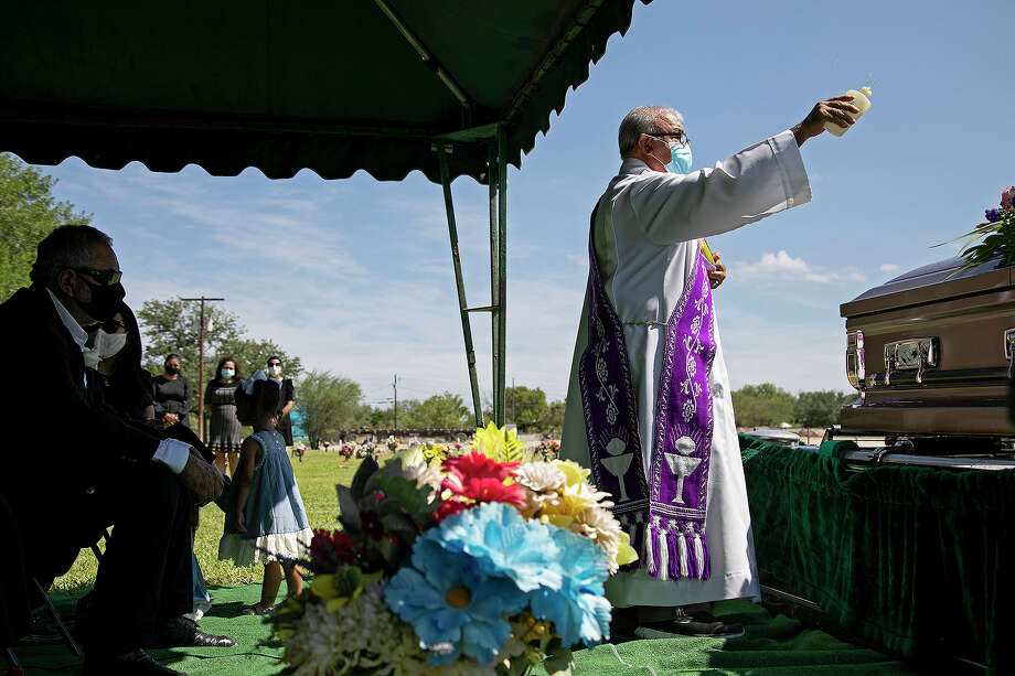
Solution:
M1015 471L874 468L740 436L758 566L910 657L1015 666Z

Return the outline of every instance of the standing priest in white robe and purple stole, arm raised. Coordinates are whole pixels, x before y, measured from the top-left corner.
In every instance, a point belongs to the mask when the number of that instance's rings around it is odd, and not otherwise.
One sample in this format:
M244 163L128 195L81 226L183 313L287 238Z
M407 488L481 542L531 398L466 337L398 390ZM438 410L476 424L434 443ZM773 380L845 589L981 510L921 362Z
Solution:
M612 494L640 557L607 582L615 633L734 636L742 627L712 602L760 599L712 299L726 270L699 238L809 202L799 147L825 122L852 125L851 100L698 170L676 110L643 106L620 125L620 171L590 219L560 447Z

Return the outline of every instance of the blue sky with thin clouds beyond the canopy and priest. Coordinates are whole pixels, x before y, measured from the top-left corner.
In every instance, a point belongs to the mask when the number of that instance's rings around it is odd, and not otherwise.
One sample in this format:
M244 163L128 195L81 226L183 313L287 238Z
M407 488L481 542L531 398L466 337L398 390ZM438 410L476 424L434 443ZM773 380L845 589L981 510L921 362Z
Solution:
M509 178L507 379L563 399L588 271L588 215L619 167L632 107L680 109L695 167L800 121L821 98L870 85L870 111L802 153L813 201L716 237L729 279L716 294L734 387L846 389L838 305L982 221L1015 183L1015 4L679 2L634 7L588 82ZM113 235L128 302L224 297L250 335L365 398L468 393L439 186L418 172L270 181L77 159L41 168L56 194ZM470 304L489 301L487 189L453 184ZM490 322L473 321L488 394ZM467 397L468 398L468 397Z

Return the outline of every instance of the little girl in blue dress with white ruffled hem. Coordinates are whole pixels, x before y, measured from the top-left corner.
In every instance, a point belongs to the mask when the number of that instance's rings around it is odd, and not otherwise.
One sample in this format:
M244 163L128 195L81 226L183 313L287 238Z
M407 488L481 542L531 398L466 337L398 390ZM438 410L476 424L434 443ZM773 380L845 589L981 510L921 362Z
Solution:
M237 391L243 399L237 400L237 414L245 414L241 420L247 417L254 433L239 447L239 468L231 489L218 558L232 559L237 566L264 564L260 603L241 612L265 615L275 609L282 575L290 595L302 591L303 580L292 561L306 556L313 532L286 442L275 429L282 404L279 388L269 380L252 379L243 390L243 395Z

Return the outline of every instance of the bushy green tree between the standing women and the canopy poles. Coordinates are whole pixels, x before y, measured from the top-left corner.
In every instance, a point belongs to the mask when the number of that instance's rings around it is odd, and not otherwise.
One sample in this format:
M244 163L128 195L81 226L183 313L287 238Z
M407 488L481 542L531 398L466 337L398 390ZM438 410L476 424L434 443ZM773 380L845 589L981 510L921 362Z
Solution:
M320 448L341 429L363 425L363 391L357 383L327 371L311 371L296 384L296 409L303 417L310 448Z

